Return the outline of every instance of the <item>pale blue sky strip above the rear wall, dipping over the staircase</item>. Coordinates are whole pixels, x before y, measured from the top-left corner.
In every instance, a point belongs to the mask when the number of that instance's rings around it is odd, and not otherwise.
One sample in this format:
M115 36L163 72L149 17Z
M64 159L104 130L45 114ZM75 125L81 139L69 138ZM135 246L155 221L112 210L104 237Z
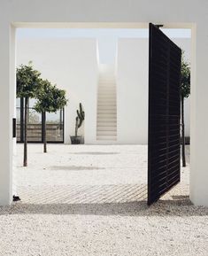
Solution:
M190 29L161 29L171 38L190 38ZM119 38L148 38L146 28L18 28L21 38L96 38L100 63L112 63Z

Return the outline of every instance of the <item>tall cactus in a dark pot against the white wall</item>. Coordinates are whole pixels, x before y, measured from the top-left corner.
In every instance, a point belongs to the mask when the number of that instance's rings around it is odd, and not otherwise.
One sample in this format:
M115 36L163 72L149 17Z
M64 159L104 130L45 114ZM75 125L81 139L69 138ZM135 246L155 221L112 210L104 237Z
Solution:
M78 129L81 128L81 125L84 120L85 112L82 109L82 105L80 103L80 110L77 110L76 122L75 122L75 136L71 137L72 144L84 144L84 137L78 136Z

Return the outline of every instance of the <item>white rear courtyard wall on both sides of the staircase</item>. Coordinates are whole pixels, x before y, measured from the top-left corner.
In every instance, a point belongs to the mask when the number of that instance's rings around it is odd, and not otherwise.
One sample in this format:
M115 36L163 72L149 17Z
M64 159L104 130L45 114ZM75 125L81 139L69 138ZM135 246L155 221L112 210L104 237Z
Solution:
M173 39L190 59L190 40ZM117 144L147 144L148 64L147 38L120 38L117 48ZM96 39L19 38L17 65L30 60L42 77L65 89L65 144L74 135L76 109L81 102L86 120L79 129L87 144L96 144ZM189 136L189 100L185 105Z

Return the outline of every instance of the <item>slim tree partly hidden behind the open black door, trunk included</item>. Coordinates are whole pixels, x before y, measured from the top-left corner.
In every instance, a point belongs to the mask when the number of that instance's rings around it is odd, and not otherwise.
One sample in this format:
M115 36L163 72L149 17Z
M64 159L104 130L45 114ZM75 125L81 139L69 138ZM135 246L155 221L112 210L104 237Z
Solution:
M182 138L182 167L186 167L185 154L185 124L184 124L184 99L190 95L190 65L184 58L184 51L181 58L181 138Z

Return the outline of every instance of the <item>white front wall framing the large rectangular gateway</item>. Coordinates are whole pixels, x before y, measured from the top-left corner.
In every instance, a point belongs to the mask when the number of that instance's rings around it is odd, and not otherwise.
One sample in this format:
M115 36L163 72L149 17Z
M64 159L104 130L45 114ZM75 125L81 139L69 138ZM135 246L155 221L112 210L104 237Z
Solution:
M190 198L208 206L207 1L2 0L0 10L0 205L12 203L15 27L148 27L153 22L192 29Z

